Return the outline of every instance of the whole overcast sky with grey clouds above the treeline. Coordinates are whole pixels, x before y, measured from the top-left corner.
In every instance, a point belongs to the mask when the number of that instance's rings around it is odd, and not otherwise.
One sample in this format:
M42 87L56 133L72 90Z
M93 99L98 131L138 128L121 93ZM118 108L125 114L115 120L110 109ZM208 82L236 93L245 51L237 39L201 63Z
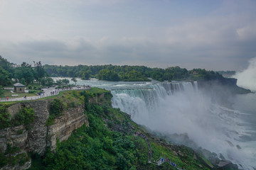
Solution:
M255 0L0 0L10 62L245 69Z

